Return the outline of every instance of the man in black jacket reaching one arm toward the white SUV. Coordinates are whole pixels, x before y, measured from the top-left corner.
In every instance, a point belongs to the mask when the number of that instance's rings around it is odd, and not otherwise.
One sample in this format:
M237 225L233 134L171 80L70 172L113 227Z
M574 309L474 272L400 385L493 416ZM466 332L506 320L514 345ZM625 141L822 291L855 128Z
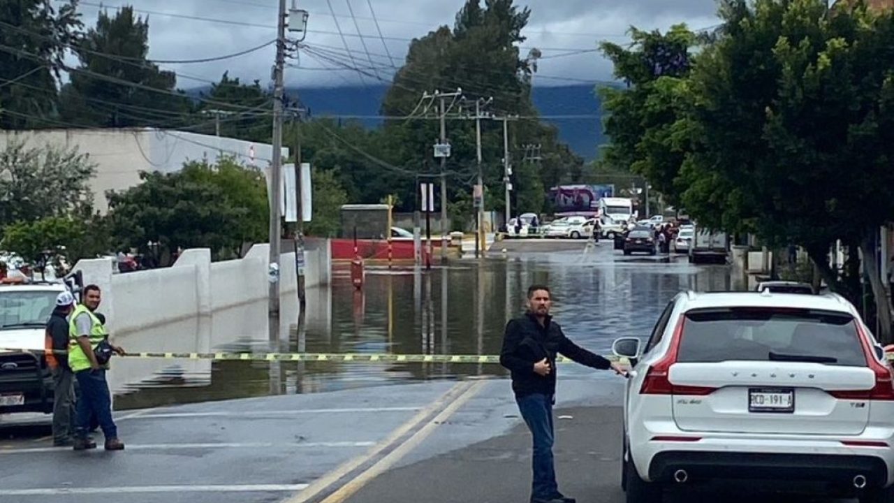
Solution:
M500 364L511 371L515 400L534 437L531 502L574 503L575 499L559 492L552 460L556 354L561 353L594 369L611 369L624 376L627 372L618 363L590 353L565 337L559 324L550 316L549 287L535 285L528 288L527 304L525 315L506 325Z

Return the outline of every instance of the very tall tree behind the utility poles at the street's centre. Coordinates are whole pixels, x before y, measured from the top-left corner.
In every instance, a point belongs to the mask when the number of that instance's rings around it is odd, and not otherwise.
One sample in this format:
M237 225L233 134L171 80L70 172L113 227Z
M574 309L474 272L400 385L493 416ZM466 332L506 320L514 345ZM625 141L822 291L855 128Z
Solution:
M543 146L541 188L579 179L582 159L558 141L555 128L541 124L536 117L530 86L533 68L519 55L519 43L525 40L522 31L530 14L530 10L519 8L512 0L487 0L484 5L479 0L468 0L457 14L452 30L443 26L410 44L407 64L397 72L382 107L386 115L409 116L385 121L380 141L384 144L384 156L392 165L411 173L440 171L432 148L439 137L438 121L432 119L437 116L440 99L422 98L423 93L461 88L469 100L493 97L489 107L492 112L519 115L518 120L510 122L510 154L516 172L521 164L521 156L516 156L519 145L533 143ZM452 98L446 100L446 105L453 115L460 107L467 112L474 107ZM476 163L470 162L477 155L474 121L449 121L447 137L452 150L446 163L448 199L459 200L471 191L477 174ZM500 122L482 122L482 157L488 192L502 193ZM401 209L414 209L415 178L394 182L401 183L401 200L405 204ZM512 182L519 190L527 183L518 176ZM521 206L526 200L524 196L519 201L519 194L513 193L513 198L519 211L530 210ZM502 204L496 208L502 209ZM472 217L470 210L468 217Z

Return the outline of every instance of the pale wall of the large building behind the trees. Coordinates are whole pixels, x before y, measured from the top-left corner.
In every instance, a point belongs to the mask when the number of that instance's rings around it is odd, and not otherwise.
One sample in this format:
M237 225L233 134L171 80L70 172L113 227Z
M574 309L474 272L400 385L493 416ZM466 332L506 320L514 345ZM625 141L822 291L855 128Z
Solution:
M138 184L140 171L173 173L185 162L215 162L222 155L245 166L263 168L273 157L273 146L263 143L151 128L0 131L0 149L10 141L23 141L30 148L47 144L77 147L88 154L97 165L90 189L100 212L108 208L105 191L121 191ZM288 152L283 149L284 156Z

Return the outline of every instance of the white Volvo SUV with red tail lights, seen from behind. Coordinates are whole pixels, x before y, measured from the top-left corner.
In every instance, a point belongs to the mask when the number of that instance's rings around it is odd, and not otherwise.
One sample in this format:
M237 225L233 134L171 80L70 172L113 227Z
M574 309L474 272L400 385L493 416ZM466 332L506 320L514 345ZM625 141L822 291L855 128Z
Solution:
M631 359L621 484L628 503L665 485L822 482L894 501L892 369L837 294L678 294Z

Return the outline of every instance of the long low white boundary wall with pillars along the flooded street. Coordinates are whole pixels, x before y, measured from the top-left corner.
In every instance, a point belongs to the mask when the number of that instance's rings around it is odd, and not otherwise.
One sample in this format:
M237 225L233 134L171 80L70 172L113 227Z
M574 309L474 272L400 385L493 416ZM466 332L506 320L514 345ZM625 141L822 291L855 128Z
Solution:
M328 241L316 243L306 252L307 288L329 283L332 259ZM149 327L180 322L198 323L198 347L207 348L211 324L203 323L217 311L240 305L266 302L267 244L256 244L239 260L212 262L207 249L184 251L167 269L148 269L114 274L111 259L80 260L84 283L103 291L99 311L114 336L127 336ZM320 270L326 267L325 271ZM295 253L283 253L280 260L280 293L295 294L298 282Z

